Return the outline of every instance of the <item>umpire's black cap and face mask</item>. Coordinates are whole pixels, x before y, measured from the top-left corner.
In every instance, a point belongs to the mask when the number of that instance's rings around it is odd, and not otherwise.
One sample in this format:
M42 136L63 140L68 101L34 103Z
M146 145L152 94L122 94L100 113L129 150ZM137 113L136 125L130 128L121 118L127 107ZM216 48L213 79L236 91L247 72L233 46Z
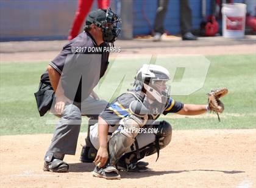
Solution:
M118 24L121 24L121 19L111 8L91 11L85 21L84 30L89 29L91 24L95 24L102 29L102 38L105 42L115 42L121 31L118 28Z

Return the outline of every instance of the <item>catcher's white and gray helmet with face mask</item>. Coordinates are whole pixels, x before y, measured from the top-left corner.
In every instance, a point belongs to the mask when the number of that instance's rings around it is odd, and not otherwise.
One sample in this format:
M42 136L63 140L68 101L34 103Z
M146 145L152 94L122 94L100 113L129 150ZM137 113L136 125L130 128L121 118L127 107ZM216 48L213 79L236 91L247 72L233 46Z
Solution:
M160 65L144 64L135 76L135 90L149 93L158 102L165 103L169 97L170 86L165 82L169 81L169 71ZM159 87L158 83L162 86Z

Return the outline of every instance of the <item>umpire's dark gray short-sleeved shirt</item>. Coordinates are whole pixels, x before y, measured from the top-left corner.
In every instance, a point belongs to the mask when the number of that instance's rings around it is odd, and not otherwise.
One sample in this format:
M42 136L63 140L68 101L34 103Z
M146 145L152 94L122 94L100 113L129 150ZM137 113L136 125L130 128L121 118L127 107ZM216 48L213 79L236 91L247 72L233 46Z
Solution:
M66 44L49 65L61 75L65 96L75 102L86 99L108 66L107 42L97 45L88 32L80 33ZM49 73L41 75L41 82L51 86Z

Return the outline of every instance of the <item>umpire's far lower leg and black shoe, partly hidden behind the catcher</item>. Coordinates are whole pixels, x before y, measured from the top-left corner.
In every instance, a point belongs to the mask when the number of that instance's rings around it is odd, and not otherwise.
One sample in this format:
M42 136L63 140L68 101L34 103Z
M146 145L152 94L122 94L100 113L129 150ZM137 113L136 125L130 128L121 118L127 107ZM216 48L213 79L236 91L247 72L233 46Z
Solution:
M90 126L98 122L98 119L90 118L88 121L87 138L85 138L85 146L82 147L80 161L83 163L93 163L97 155L97 150L94 148L90 140Z

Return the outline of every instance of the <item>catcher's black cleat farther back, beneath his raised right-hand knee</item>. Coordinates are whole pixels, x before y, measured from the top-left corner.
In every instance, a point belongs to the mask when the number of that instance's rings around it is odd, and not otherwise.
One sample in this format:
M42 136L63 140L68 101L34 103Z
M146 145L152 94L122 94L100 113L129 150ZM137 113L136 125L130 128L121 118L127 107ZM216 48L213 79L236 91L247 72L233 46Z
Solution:
M144 161L139 161L138 163L127 164L124 161L119 160L116 164L116 168L120 171L129 171L129 172L147 172L149 170L149 163Z

